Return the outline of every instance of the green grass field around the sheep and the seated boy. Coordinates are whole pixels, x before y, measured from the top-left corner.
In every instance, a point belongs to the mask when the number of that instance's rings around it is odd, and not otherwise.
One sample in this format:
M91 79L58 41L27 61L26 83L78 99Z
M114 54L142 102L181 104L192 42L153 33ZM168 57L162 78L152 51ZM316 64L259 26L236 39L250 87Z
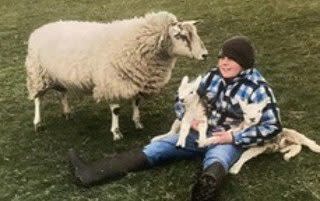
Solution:
M74 98L73 120L61 117L54 93L43 104L44 129L33 130L33 102L27 99L24 61L29 34L56 20L111 21L167 10L179 19L201 19L199 35L207 61L178 60L160 95L145 101L145 129L136 131L131 107L123 102L125 138L112 141L106 103ZM105 185L74 185L66 161L73 147L90 160L142 147L166 132L174 119L173 95L183 75L195 77L216 62L226 38L243 34L257 46L258 68L273 86L282 122L320 143L319 0L0 0L0 200L156 201L188 200L200 161L180 161ZM320 155L303 149L290 162L280 154L258 157L222 191L226 201L320 200Z

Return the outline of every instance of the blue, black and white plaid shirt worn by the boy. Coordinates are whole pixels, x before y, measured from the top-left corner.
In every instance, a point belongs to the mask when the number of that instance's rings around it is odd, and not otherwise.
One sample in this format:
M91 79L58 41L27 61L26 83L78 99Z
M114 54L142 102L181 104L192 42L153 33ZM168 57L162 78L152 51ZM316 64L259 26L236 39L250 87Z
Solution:
M272 89L255 68L247 69L227 82L219 70L214 68L203 77L198 93L208 102L208 124L211 132L230 129L243 121L239 100L260 103L270 99L258 124L234 133L236 145L263 145L265 140L271 139L282 130L280 112ZM183 117L184 111L184 106L176 102L175 112L179 119Z

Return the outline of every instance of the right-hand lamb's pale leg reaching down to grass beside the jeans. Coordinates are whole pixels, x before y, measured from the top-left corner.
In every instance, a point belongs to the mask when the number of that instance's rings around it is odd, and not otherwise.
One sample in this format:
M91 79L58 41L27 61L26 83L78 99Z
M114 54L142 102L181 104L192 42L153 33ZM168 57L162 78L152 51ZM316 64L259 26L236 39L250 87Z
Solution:
M229 172L231 174L238 174L242 168L242 166L250 159L257 157L258 155L262 154L266 151L268 147L262 146L262 147L252 147L245 152L242 153L239 160L233 164L233 166L229 169Z

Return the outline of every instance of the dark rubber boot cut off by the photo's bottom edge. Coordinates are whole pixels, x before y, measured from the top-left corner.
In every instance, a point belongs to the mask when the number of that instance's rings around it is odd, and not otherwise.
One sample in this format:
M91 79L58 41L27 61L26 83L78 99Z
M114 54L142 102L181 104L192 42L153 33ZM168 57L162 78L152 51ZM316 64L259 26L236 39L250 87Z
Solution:
M226 172L222 164L215 162L203 171L192 188L191 201L216 201Z

